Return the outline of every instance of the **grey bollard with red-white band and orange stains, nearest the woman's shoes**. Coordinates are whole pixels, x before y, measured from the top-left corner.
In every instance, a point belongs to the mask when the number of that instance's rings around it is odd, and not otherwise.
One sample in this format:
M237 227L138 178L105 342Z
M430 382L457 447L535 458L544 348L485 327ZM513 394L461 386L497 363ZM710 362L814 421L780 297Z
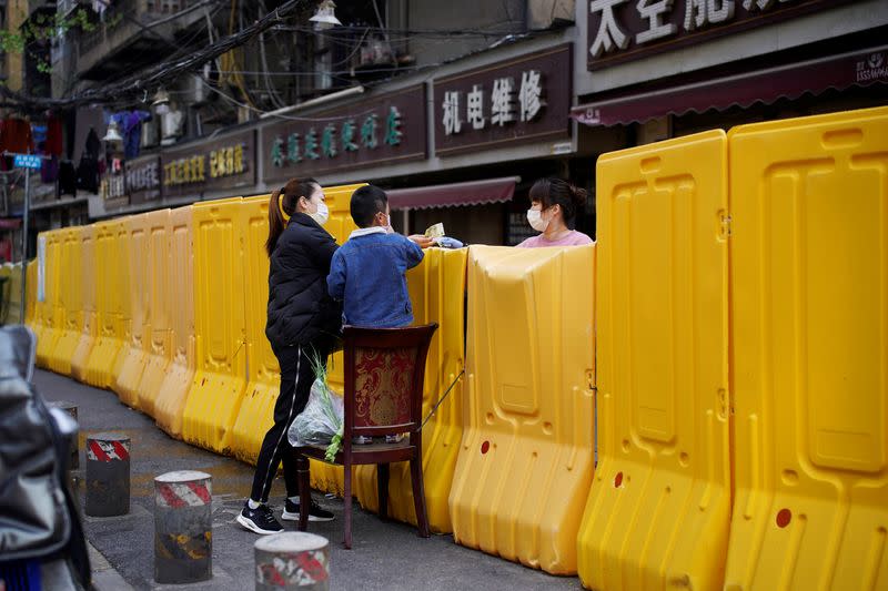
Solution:
M212 477L181 470L154 479L154 580L194 583L213 575Z

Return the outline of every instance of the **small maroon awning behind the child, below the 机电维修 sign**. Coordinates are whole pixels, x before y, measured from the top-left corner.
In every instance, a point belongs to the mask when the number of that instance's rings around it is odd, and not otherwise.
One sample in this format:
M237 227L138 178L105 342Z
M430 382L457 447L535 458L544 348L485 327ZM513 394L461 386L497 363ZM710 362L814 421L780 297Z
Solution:
M386 191L392 210L424 210L511 201L521 176Z

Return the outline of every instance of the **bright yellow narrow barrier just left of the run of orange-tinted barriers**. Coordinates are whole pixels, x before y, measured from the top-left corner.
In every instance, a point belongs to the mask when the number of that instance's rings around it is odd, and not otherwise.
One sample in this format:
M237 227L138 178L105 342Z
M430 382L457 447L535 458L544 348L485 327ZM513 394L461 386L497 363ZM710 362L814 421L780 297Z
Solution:
M87 360L85 381L110 388L114 364L123 359L123 300L129 300L129 261L122 251L125 217L93 224L95 232L95 344Z

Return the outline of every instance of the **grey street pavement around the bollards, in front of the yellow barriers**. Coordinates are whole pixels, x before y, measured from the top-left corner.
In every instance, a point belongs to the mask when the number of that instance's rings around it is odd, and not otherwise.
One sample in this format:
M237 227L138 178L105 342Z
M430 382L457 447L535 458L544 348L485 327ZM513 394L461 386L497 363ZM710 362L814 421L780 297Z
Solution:
M83 507L83 448L88 435L122 431L131 438L130 512L122 517L83 517L98 591L129 589L253 589L256 536L234 522L250 492L252 466L170 438L153 420L122 405L113 393L38 370L38 391L47 400L70 400L80 419L80 466L74 472ZM158 585L153 581L153 479L172 470L201 470L213 476L213 578L189 585ZM283 508L281 478L272 487L271 505ZM354 543L344 550L342 500L315 492L333 511L329 523L309 524L309 531L330 540L331 589L374 590L561 590L582 589L574 578L553 577L453 542L452 536L416 537L416 529L355 508ZM283 522L287 530L295 523Z

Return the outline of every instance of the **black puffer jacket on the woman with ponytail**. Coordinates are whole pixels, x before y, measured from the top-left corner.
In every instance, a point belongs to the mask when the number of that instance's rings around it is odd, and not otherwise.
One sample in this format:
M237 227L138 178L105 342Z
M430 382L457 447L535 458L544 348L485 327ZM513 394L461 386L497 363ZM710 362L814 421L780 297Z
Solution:
M269 267L265 336L274 348L337 335L342 306L326 291L336 242L304 213L294 213L278 238Z

